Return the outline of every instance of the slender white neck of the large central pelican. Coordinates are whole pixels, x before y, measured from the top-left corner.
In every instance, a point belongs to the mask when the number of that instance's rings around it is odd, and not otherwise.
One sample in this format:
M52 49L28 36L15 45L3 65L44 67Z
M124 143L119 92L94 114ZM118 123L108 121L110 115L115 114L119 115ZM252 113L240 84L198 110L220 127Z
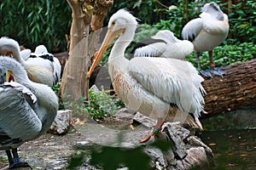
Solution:
M133 40L135 35L136 25L125 28L125 32L120 35L118 40L113 44L113 48L109 55L108 62L113 62L115 59L117 60L127 60L125 59L125 49Z

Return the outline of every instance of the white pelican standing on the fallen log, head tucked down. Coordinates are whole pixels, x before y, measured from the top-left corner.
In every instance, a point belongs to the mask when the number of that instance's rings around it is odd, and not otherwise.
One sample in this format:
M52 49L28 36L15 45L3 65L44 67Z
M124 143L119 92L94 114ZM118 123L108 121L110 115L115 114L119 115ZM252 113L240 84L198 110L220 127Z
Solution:
M211 73L223 76L225 73L220 69L215 68L215 63L212 58L212 49L224 42L229 33L229 19L226 14L218 7L216 3L207 3L202 8L200 18L190 20L183 27L182 37L186 40L191 40L195 47L198 69L200 66L200 53L208 51L210 57L210 70L201 71L201 74L206 77L212 77Z

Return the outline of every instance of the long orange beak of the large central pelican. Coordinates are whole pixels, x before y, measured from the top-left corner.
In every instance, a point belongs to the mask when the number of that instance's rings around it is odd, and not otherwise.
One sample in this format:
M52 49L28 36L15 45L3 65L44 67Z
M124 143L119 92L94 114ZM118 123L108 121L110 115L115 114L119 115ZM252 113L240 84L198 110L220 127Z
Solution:
M108 32L102 42L101 48L94 54L95 60L93 61L92 65L90 66L90 71L87 73L87 77L89 78L92 71L95 69L96 65L100 62L103 57L103 54L106 52L108 47L112 44L115 37L117 37L120 33L123 33L125 29L119 29L118 31L112 31L113 26L108 29Z

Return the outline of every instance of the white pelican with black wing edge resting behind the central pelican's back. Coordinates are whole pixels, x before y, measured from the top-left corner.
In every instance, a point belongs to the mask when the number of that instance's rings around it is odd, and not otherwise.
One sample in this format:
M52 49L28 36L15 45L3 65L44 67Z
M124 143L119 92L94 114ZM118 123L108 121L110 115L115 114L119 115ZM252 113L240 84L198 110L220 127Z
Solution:
M158 31L154 37L138 42L131 50L134 57L166 57L172 59L184 59L194 50L192 42L179 40L172 31Z

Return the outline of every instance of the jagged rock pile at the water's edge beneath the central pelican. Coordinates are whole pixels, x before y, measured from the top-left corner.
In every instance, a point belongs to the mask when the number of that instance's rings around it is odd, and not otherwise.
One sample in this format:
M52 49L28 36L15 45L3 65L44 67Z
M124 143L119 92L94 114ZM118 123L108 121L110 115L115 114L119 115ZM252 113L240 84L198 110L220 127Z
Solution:
M165 139L173 145L170 150L160 150L146 146L146 153L152 158L155 169L206 169L213 165L212 150L201 139L191 135L190 131L178 122L166 122L157 139ZM152 140L148 142L149 145Z

